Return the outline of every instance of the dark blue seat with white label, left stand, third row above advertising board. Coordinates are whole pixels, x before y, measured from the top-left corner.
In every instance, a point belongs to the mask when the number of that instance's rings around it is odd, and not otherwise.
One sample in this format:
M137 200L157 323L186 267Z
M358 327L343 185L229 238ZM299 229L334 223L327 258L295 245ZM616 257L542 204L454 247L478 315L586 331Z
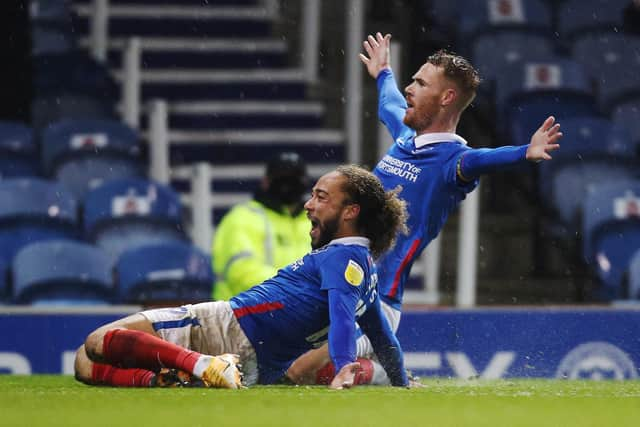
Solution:
M114 120L63 120L42 133L46 172L81 200L111 179L142 177L138 135Z

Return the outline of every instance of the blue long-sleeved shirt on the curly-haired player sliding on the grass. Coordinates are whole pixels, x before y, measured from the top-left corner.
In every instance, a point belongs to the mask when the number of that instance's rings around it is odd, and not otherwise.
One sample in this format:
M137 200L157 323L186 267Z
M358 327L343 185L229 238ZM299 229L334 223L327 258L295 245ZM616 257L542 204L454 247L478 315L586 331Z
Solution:
M329 342L336 372L355 361L355 322L377 341L392 381L405 384L402 352L384 319L368 239L335 239L231 298L231 307L258 358L259 382L278 381L306 351ZM398 372L399 370L402 373Z

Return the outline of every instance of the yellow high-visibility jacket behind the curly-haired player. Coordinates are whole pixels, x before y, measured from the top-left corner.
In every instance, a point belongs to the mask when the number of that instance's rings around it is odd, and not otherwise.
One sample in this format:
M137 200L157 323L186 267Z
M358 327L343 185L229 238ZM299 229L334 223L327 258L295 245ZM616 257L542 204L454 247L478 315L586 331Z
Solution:
M214 235L213 298L228 300L302 258L311 250L310 230L304 210L291 216L255 200L234 206Z

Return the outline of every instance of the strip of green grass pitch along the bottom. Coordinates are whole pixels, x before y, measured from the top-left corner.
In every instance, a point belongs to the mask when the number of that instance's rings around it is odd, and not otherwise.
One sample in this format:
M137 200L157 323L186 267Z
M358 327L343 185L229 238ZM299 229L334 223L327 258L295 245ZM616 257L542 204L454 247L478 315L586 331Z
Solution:
M638 426L640 382L424 380L424 388L88 387L0 375L0 426Z

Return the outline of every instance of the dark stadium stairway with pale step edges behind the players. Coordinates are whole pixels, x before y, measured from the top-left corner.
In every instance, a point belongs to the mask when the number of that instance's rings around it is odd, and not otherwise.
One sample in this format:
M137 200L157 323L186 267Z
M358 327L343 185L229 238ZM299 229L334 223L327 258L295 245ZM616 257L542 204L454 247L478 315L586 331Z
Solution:
M73 5L88 48L91 1ZM259 0L110 0L108 66L121 82L126 40L140 38L142 102L169 103L172 166L214 166L215 222L250 197L277 150L300 153L316 176L344 160L344 135L323 128L326 106L307 97L277 19ZM186 175L172 185L189 191Z

